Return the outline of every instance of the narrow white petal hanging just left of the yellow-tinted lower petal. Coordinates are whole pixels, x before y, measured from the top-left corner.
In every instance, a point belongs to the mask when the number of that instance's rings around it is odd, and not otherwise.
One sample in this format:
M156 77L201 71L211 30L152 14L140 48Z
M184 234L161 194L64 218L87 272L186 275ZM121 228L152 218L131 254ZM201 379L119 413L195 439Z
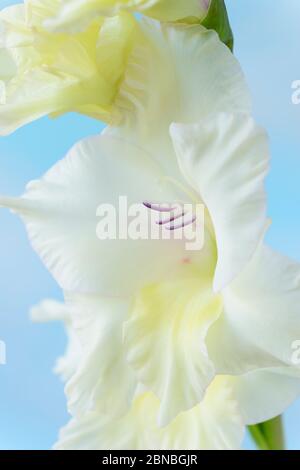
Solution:
M68 410L76 416L87 411L121 416L137 386L122 342L127 302L78 294L66 295L66 301L82 345L77 370L65 389Z

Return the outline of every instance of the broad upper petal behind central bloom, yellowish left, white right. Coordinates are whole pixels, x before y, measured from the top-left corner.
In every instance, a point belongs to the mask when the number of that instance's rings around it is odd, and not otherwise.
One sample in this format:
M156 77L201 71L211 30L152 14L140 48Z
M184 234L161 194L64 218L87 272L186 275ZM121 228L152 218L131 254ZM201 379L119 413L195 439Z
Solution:
M150 20L141 27L145 41L129 57L116 100L124 110L127 135L147 141L164 161L161 140L171 146L172 122L189 124L212 113L251 110L240 65L215 32Z

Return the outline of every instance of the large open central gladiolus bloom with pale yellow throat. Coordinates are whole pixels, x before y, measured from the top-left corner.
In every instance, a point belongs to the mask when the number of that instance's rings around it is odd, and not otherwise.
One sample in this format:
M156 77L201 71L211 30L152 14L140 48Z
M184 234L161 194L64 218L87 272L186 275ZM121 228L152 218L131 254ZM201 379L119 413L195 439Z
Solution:
M20 214L63 289L95 296L88 310L98 296L122 303L116 314L110 305L99 314L86 362L67 386L70 407L84 412L104 396L109 403L117 363L126 382L120 408L142 383L157 396L158 422L166 425L201 402L216 374L290 366L299 267L258 248L268 146L247 114L235 59L201 27L150 22L144 30L152 47L131 58L118 97L122 127L79 143L22 198L0 204ZM145 201L202 202L204 249L187 252L185 240L100 241L97 207L117 207L122 195L145 212L152 207ZM125 322L124 336L115 322Z

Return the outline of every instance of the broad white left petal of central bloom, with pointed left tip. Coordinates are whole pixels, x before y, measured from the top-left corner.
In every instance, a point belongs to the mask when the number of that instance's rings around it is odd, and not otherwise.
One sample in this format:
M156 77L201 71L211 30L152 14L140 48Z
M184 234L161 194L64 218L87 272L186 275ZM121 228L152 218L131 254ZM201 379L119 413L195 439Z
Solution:
M144 201L185 197L140 147L96 136L75 145L22 198L2 197L0 206L21 215L34 249L63 289L125 296L176 276L187 256L201 256L187 255L185 240L170 230L164 239L150 237L149 227L158 225Z

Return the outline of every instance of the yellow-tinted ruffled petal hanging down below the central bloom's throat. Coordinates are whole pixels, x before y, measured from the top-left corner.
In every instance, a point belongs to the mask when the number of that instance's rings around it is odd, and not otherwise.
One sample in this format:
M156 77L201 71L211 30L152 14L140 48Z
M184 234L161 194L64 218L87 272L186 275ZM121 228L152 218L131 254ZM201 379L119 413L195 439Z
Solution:
M199 403L214 378L205 337L220 309L204 276L154 284L137 296L125 323L127 360L161 401L159 425Z

